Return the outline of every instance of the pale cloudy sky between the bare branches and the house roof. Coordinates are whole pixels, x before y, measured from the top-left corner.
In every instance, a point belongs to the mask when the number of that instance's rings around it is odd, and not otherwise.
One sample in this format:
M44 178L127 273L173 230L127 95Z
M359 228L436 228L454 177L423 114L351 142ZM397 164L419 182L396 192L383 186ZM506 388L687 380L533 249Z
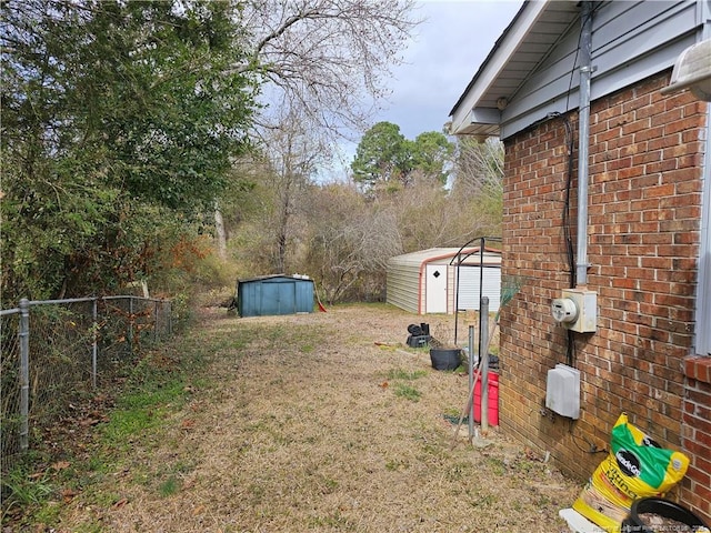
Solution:
M424 21L403 51L404 62L392 70L391 94L380 102L383 109L373 117L373 124L383 121L398 124L410 140L427 131L442 131L449 112L522 3L522 0L419 1L413 18ZM357 143L342 144L334 167L327 174L337 179L339 174L348 174L356 147Z

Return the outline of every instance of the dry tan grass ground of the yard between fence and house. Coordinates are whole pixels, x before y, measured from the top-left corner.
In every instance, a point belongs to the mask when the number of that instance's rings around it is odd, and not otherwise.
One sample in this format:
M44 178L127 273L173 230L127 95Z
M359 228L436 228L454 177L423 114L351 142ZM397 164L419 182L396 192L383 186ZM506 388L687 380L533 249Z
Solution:
M558 511L580 485L544 457L498 429L471 442L467 424L451 449L468 379L404 345L422 320L453 332L452 316L384 305L206 309L181 345L210 353L209 375L164 434L107 475L110 499L77 499L61 531L568 531Z

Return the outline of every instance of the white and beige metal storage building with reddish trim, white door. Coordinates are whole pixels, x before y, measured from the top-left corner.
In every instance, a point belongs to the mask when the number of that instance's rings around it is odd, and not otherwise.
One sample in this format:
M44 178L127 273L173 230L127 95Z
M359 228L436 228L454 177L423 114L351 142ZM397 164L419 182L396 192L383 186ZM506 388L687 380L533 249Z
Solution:
M480 266L483 255L483 268ZM459 281L458 281L459 274ZM501 252L484 248L431 248L388 261L387 302L417 314L478 310L481 294L489 311L501 298Z

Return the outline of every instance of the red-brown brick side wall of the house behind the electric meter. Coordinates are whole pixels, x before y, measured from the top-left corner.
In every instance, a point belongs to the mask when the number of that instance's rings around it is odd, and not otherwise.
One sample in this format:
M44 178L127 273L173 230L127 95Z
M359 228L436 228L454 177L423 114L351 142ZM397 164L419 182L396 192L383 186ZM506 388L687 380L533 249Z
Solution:
M694 326L705 103L689 93L662 97L668 80L655 77L591 105L588 288L598 293L595 333L569 335L550 312L570 286L562 213L577 117L505 142L502 273L523 285L501 316L502 426L581 480L604 457L622 412L664 445L709 451L708 422L693 430L681 423L697 386L684 375L684 358ZM577 169L574 159L573 241ZM575 422L544 409L548 370L571 360L582 375ZM701 403L709 400L703 394ZM708 403L701 409L694 423L708 421ZM701 434L705 441L693 447ZM709 489L708 461L697 465L707 476L684 480L680 495L689 496L692 483ZM700 503L695 509L709 513Z

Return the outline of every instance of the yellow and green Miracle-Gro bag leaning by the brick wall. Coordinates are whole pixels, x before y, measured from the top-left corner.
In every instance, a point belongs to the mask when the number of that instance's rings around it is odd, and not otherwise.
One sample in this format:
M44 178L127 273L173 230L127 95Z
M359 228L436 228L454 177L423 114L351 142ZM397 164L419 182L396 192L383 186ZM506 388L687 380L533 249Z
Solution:
M609 532L619 532L640 497L661 496L687 473L689 457L661 447L622 413L612 428L610 453L595 469L573 509Z

